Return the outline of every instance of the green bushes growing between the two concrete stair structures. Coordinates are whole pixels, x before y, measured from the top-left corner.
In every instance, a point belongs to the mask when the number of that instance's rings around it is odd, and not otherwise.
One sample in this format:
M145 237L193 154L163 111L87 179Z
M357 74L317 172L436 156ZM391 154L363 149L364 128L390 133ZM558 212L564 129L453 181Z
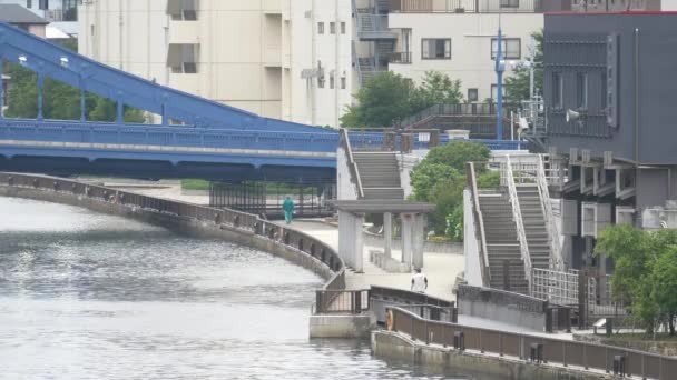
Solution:
M481 143L454 141L433 148L411 173L412 198L435 204L430 224L436 234L463 240L463 189L465 162L487 161L491 151ZM478 182L498 186L494 172L484 172Z

